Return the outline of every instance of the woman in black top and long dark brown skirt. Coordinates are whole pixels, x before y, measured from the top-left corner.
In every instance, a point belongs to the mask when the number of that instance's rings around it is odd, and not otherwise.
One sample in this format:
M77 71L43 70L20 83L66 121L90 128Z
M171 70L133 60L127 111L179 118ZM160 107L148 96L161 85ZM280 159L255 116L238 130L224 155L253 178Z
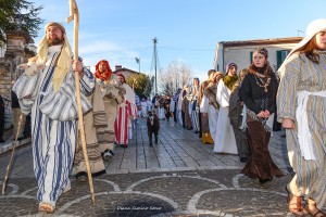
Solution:
M251 156L241 173L252 179L259 178L260 183L272 181L274 176L283 176L268 151L278 82L267 59L268 51L265 48L256 48L253 51L249 74L239 89L239 95L247 107L247 129L251 149Z

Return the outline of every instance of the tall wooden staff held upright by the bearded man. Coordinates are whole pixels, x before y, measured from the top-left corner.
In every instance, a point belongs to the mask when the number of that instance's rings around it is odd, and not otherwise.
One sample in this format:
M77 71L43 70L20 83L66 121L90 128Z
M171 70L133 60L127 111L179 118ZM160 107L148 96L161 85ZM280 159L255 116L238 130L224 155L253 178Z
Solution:
M79 25L79 15L78 15L78 8L75 0L70 0L70 16L66 18L66 23L70 23L74 20L74 60L78 60L78 25ZM79 84L79 73L75 72L75 84L76 84L76 100L77 100L77 106L78 106L78 122L79 122L79 132L80 132L80 139L82 139L82 148L86 164L86 170L88 176L88 183L89 183L89 190L91 195L91 202L92 205L96 204L95 200L95 192L93 192L93 184L92 184L92 177L90 171L90 165L89 159L87 155L87 149L86 149L86 140L85 140L85 129L84 129L84 120L83 120L83 110L82 110L82 102L80 102L80 84Z

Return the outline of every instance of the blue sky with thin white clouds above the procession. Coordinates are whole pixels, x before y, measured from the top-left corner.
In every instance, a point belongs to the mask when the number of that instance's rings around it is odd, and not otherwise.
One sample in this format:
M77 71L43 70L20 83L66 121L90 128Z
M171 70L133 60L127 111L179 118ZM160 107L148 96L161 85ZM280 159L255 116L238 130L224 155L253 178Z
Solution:
M40 17L65 25L73 43L67 0L29 0L42 5ZM193 77L206 78L218 41L304 36L306 25L326 18L325 0L76 0L79 9L79 55L93 66L105 59L153 74L158 38L161 68L183 61ZM36 46L43 36L43 25ZM73 47L73 46L72 46Z

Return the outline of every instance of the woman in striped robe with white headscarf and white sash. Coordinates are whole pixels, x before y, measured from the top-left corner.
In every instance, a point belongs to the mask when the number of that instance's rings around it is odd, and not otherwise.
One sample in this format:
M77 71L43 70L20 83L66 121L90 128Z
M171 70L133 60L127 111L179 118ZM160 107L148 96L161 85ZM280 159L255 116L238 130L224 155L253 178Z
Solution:
M319 217L326 216L326 20L313 21L305 33L279 69L277 114L296 173L287 186L289 209Z

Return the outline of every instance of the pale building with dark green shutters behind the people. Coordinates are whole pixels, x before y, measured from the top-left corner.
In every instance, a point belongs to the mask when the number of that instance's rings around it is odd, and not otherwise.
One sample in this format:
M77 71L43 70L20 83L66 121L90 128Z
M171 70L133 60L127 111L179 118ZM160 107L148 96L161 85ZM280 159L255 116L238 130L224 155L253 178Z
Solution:
M214 69L225 73L228 63L236 63L238 72L252 62L252 52L258 47L268 51L268 62L274 72L278 69L287 54L302 40L302 37L258 39L243 41L220 41L215 49Z

